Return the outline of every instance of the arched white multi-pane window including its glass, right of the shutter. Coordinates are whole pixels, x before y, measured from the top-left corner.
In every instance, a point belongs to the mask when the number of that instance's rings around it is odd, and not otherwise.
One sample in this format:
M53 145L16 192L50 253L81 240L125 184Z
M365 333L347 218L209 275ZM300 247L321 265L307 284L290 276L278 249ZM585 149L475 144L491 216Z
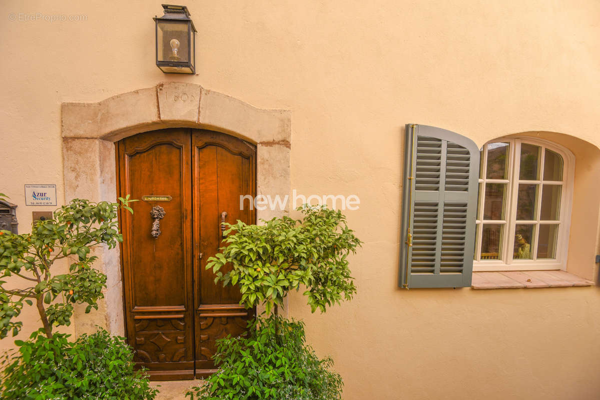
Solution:
M554 143L484 145L473 270L565 269L575 158Z

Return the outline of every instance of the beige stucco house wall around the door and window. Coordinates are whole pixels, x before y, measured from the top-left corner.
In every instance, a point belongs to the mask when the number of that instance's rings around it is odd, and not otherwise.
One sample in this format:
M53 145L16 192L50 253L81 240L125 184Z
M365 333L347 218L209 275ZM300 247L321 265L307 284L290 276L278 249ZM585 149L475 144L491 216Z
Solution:
M598 1L190 1L196 76L154 65L160 3L4 4L0 191L19 204L21 231L44 209L25 206L24 184L56 184L64 200L62 103L173 81L288 109L290 191L361 199L347 212L365 241L352 258L355 300L325 315L311 315L298 296L289 306L317 353L334 357L345 399L598 397L597 287L406 291L396 283L407 123L479 145L537 131L587 141L563 143L581 157L569 270L597 278ZM10 21L10 13L87 19Z

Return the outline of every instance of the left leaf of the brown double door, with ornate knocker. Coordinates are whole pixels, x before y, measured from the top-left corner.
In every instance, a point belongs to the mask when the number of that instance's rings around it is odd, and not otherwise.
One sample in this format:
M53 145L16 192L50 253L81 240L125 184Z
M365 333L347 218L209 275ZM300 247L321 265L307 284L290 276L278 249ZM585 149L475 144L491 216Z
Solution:
M121 213L127 338L136 362L153 379L191 378L190 133L172 129L131 136L118 143L118 152L119 193L140 200L131 203L133 215ZM171 200L144 201L145 196ZM153 207L164 209L157 237Z

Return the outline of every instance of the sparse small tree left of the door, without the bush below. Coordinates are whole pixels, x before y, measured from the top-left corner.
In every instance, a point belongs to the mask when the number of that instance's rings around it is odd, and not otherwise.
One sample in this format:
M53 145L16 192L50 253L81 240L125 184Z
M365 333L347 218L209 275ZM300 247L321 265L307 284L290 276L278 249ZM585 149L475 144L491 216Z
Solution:
M97 259L90 249L115 247L121 242L117 212L128 206L129 196L119 203L91 203L75 199L54 212L54 218L37 221L31 233L0 230L0 338L19 333L17 320L23 305L35 302L44 333L52 338L53 326L69 325L73 303L85 303L85 312L98 308L104 297L106 275L92 267ZM69 272L54 275L52 267L63 258L71 261ZM5 278L15 276L23 285L11 286ZM14 279L11 279L14 281Z

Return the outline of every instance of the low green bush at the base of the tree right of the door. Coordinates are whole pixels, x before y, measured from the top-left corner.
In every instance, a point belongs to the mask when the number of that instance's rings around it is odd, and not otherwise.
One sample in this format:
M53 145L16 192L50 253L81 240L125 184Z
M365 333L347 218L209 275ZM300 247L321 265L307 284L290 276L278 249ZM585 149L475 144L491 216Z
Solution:
M338 400L342 380L330 358L305 343L304 323L278 315L257 318L247 338L217 341L219 371L187 393L191 399Z

